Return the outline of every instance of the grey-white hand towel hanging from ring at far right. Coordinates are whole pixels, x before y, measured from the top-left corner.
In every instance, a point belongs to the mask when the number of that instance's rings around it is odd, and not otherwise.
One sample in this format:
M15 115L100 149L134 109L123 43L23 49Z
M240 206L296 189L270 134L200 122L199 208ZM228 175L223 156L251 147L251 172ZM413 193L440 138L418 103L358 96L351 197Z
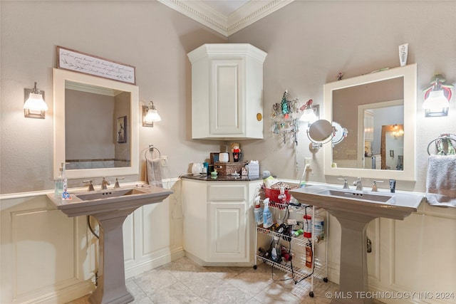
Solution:
M430 155L426 199L432 206L456 208L456 155Z

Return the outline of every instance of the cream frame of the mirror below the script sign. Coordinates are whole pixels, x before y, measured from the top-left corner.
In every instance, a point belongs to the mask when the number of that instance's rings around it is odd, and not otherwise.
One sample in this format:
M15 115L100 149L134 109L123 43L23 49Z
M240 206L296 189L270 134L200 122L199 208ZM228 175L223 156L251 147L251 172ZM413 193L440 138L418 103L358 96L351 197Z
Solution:
M67 169L66 177L69 179L90 178L90 177L119 177L123 175L139 174L139 140L138 140L138 109L139 89L137 85L122 83L106 78L99 78L92 75L72 72L53 68L53 109L54 109L54 157L53 177L56 179L59 174L61 162L65 162L65 85L66 80L95 85L113 90L122 90L130 93L130 116L128 127L130 127L130 167L113 167L97 169ZM109 135L108 135L109 136Z

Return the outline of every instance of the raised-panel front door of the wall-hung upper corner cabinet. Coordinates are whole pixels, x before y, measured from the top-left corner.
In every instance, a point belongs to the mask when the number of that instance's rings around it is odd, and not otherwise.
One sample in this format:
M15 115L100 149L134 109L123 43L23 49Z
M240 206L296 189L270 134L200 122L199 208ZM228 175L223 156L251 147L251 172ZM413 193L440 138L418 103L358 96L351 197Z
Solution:
M210 130L212 135L244 134L244 60L213 60Z

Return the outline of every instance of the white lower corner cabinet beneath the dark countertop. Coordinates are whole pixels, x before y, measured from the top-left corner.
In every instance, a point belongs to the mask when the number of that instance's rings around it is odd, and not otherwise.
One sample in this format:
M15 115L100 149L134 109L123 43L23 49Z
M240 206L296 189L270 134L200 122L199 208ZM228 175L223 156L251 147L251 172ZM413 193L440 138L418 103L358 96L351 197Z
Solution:
M252 266L257 182L182 179L184 249L202 266Z

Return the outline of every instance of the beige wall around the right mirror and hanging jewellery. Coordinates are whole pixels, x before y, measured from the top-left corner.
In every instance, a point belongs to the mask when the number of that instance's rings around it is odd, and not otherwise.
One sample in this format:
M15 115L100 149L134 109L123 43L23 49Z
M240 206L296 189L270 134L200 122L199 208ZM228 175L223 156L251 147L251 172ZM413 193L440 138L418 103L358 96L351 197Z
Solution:
M323 151L312 154L304 130L299 133L295 170L294 147L281 144L270 130L269 113L289 90L289 98L323 104L323 84L337 80L338 72L350 78L385 67L399 66L398 46L408 43L408 63L418 63L416 114L416 182L398 182L396 189L425 191L427 144L442 132L456 132L456 106L450 115L425 118L424 88L433 75L442 73L448 83L456 82L456 48L452 33L456 19L453 1L294 1L229 37L230 43L249 42L268 53L264 63L263 141L244 144L244 153L258 157L262 169L279 177L299 179L304 157L314 157L309 180L335 182L323 175ZM322 108L320 108L322 112ZM267 153L264 153L267 151ZM406 155L404 156L406 157ZM354 180L354 179L351 179ZM368 184L366 182L365 184ZM385 183L384 183L385 184ZM370 184L368 184L370 186ZM387 184L381 187L387 187Z

